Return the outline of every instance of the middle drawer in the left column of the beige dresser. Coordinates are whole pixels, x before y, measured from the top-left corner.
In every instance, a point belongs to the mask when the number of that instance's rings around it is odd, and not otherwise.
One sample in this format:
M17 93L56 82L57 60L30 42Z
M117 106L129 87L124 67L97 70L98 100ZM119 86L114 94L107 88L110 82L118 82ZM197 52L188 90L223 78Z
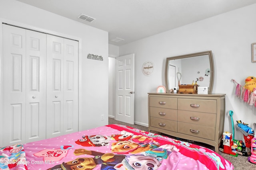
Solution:
M150 116L177 121L177 110L161 107L150 107Z

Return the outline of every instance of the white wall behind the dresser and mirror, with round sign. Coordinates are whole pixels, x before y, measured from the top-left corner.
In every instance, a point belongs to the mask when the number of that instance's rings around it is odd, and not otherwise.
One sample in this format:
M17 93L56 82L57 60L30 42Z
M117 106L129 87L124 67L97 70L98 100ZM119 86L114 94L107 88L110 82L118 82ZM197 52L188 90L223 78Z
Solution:
M214 16L183 27L120 47L120 55L135 53L135 121L148 124L148 92L165 85L166 57L212 50L214 58L213 93L226 94L224 130L232 133L229 111L233 119L256 122L256 109L234 96L235 84L244 84L247 76L256 76L256 63L251 63L251 44L256 42L256 4ZM151 76L142 74L142 64L155 65ZM236 131L236 139L243 139Z

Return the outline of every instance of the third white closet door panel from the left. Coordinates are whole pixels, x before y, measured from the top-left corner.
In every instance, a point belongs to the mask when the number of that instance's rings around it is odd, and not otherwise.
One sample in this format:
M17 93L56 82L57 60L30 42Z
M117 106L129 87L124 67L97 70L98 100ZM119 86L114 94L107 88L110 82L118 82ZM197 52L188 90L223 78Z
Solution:
M47 35L46 138L62 135L63 131L63 38Z

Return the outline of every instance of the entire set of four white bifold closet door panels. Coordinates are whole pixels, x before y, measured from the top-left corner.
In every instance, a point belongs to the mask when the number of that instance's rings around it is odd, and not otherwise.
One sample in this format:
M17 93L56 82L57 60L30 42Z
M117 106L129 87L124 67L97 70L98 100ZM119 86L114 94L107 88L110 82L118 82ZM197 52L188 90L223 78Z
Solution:
M2 25L2 144L78 131L78 41Z

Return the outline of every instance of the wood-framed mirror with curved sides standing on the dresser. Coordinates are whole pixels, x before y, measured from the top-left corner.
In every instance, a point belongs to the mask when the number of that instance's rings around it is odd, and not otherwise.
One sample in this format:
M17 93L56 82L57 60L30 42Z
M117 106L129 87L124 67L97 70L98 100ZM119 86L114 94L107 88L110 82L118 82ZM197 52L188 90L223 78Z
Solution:
M208 87L208 93L212 93L213 80L212 51L166 58L166 92L170 92L174 87L178 88L179 84L192 84L194 82L198 86Z

